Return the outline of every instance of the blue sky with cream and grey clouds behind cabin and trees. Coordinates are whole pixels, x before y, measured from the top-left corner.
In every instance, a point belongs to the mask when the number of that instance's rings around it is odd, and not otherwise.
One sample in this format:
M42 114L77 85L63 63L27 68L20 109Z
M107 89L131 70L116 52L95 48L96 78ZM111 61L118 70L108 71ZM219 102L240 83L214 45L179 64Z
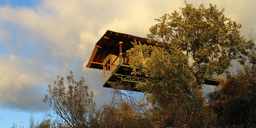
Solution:
M216 4L241 23L241 35L256 34L255 0L187 0L198 8ZM155 18L180 11L183 0L0 0L0 127L43 118L48 84L74 72L84 77L97 105L109 101L102 70L86 68L96 42L107 31L145 37ZM236 64L234 65L236 67ZM231 71L232 72L232 71ZM214 89L206 86L204 90Z

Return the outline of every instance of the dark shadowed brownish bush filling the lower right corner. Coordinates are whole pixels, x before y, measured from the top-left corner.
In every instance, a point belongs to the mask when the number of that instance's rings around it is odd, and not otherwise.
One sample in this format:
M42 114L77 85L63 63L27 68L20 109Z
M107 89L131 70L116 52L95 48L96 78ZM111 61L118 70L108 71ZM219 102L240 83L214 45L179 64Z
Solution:
M214 125L256 127L256 67L239 69L207 95Z

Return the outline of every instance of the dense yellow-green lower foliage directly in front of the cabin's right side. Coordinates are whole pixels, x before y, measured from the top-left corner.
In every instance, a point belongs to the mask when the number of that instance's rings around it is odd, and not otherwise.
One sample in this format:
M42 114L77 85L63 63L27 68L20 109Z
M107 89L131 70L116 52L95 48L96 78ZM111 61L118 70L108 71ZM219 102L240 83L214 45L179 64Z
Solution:
M153 52L151 59L143 57L141 50ZM155 127L187 126L191 119L200 116L203 107L200 88L189 70L188 57L179 48L172 47L169 53L164 48L138 44L127 52L132 55L133 73L155 80L137 84L145 94L141 105L150 102L153 107L151 122ZM202 123L200 119L197 122Z

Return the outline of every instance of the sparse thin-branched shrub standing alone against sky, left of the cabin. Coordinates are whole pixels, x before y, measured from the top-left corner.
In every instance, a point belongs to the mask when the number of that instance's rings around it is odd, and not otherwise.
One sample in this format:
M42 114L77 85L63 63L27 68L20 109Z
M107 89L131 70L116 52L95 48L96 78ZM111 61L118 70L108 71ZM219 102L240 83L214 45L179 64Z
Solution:
M94 123L95 102L93 101L93 93L88 93L88 86L85 80L76 82L73 72L67 77L68 89L64 85L64 78L57 76L54 86L48 85L48 94L45 94L44 103L54 112L57 118L64 121L63 125L72 128L86 128Z

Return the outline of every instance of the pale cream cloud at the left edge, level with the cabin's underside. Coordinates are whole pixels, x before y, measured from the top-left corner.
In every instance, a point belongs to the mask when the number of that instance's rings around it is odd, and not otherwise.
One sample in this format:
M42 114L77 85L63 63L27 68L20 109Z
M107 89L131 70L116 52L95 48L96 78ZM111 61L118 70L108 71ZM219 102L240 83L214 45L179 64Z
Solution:
M19 90L26 86L40 86L43 77L36 76L29 71L29 63L17 56L11 55L10 58L1 58L0 61L0 89L12 86L12 89ZM26 66L27 65L27 66ZM26 69L27 68L27 69Z

